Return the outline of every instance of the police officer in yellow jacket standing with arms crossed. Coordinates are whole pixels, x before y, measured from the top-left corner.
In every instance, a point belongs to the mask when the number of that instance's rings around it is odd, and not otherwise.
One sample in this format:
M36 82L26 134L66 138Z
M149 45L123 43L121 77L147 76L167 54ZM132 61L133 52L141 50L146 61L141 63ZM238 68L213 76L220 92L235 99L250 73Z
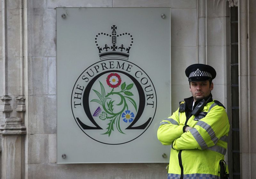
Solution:
M209 65L193 64L185 74L192 97L181 101L179 109L164 119L157 131L163 145L172 145L168 179L227 177L224 155L229 122L225 107L212 100L216 71Z

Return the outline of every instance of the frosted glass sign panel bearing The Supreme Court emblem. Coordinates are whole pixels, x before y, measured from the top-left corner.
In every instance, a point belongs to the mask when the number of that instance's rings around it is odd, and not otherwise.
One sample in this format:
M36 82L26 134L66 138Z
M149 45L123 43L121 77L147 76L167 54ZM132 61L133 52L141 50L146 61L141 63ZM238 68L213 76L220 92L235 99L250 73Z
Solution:
M58 163L168 162L170 8L57 8ZM167 157L163 157L167 154Z

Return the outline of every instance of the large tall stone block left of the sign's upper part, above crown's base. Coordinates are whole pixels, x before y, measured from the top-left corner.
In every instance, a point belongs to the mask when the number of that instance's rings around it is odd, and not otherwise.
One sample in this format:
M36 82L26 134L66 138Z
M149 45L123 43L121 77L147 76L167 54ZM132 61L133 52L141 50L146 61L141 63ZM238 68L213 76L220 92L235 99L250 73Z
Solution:
M55 9L28 9L28 56L56 56Z

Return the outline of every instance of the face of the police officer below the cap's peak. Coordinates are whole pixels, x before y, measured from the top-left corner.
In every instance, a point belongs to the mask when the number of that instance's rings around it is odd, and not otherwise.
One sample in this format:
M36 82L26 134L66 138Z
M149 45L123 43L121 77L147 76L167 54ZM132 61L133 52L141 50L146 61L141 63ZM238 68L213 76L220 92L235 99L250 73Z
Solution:
M189 91L191 91L194 101L204 99L209 96L213 89L213 83L210 85L210 82L190 82Z

